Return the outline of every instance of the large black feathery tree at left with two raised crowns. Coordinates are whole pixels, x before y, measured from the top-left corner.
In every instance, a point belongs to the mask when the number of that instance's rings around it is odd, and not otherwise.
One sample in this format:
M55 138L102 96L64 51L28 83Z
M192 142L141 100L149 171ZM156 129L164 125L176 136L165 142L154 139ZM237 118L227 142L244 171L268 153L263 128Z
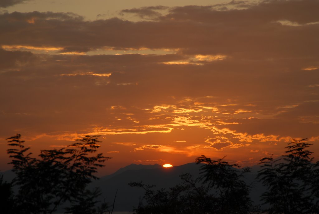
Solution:
M67 148L41 150L39 158L32 157L25 148L21 135L8 138L7 150L17 177L15 197L20 213L53 213L65 202L77 201L86 193L87 184L97 179L93 173L103 167L110 157L91 155L100 147L99 136L85 136ZM87 207L94 203L87 203ZM72 207L69 208L72 211Z

